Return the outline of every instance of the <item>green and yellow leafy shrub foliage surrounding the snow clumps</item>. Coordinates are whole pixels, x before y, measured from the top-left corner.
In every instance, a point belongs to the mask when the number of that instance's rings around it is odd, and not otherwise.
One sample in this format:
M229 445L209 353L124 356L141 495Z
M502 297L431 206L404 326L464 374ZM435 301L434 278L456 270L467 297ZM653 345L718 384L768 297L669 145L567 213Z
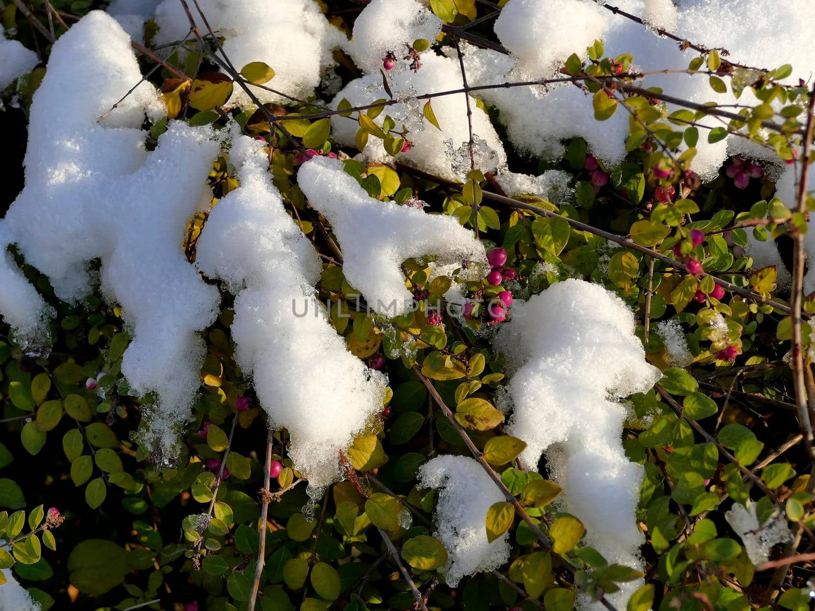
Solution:
M77 16L90 8L87 2L51 5ZM37 16L47 24L44 6L35 2ZM486 15L488 8L465 0L431 0L430 6L454 25ZM39 34L29 32L25 16L10 6L4 18L33 48L31 37ZM346 19L350 23L353 17ZM63 31L57 24L57 33ZM479 25L471 31L488 30ZM442 40L451 42L449 35ZM390 389L381 417L376 429L358 437L342 457L346 480L325 490L316 503L287 457L286 432L275 431L269 458L282 468L265 490L265 415L235 360L225 292L225 306L205 332L208 353L194 420L183 432L180 455L171 457L170 468L160 468L169 457L150 455L133 441L145 426L141 406L151 398L134 396L121 376L121 355L130 341L121 309L99 292L73 306L61 303L47 278L20 261L58 316L54 349L41 358L22 354L7 327L0 327L0 508L7 509L0 512L0 537L8 542L0 547L0 568L13 567L42 609L61 609L74 600L82 609L142 604L183 609L193 601L213 611L247 609L261 549L257 608L265 611L410 609L412 585L430 609L541 604L571 609L579 591L597 600L620 583L641 578L588 546L584 525L558 505L562 490L549 480L546 464L518 462L525 444L503 433L505 416L497 408L504 355L477 333L491 322L488 312L475 310L463 323L445 314L438 323L424 305L393 320L359 308L355 289L324 238L324 222L310 213L297 187L303 147L310 149L308 156L341 154L331 121L310 118L321 111L308 103L272 108L271 114L223 108L240 83L212 72L217 66L200 54L196 42L187 47L186 55L174 53L169 62L191 76L201 64L192 81L179 81L166 68L151 77L161 87L168 116L222 126L230 115L246 134L267 140L275 185L293 220L326 259L317 288L322 301L338 304L329 313L333 326L353 354L372 365L384 363ZM616 95L618 67L627 71L636 58L605 57L599 41L588 58L573 55L564 71L583 75L581 86L593 96L597 121L615 112L631 117L626 160L617 167L599 164L608 182L593 185L598 162L581 138L568 143L566 155L555 163L510 153L510 165L518 171L570 174L571 203L526 195L517 198L523 206L500 198L487 205L491 177L478 170L463 185L451 184L403 165L364 164L344 156L346 171L373 197L399 204L424 200L430 210L479 231L487 249L506 250L513 282L471 282L465 287L470 297L489 300L508 288L534 295L559 279L580 277L616 292L637 315L637 334L663 379L630 399L623 437L628 458L644 465L646 474L637 508L647 538L646 583L628 609L747 609L767 604L779 586L778 605L804 609L808 597L800 588L806 586L807 571L796 566L780 582L772 570L756 569L740 533L725 521L725 510L733 503L753 503L760 525L780 519L812 538L812 467L800 434L803 424L796 421L800 397L786 364L792 320L786 303L779 303L786 293L778 287L775 267L756 269L743 251L748 231L756 240L784 244L805 231L806 212L773 199L767 175L738 191L724 170L702 185L689 168L698 138L713 142L742 127L756 142L793 159L796 132L806 119L793 110L808 99L808 91L778 83L785 66L763 73L751 85L763 103L704 136L697 122L705 110L668 114L646 91ZM723 79L735 80L720 69L717 51L696 56L689 70L703 64L711 71L711 90L726 87ZM352 69L348 61L342 65ZM274 84L274 66L263 62L247 64L240 74L252 83ZM38 77L35 71L19 83L24 109ZM623 85L632 81L619 79ZM770 106L773 100L782 105L779 113ZM410 142L410 133L387 115L389 104L382 99L360 110L340 104L342 116L359 125L357 148L378 138L394 155ZM373 120L383 112L384 125L379 125ZM297 116L272 125L270 117L287 113ZM444 129L432 100L422 116L425 129ZM780 129L760 131L762 121L770 119L780 121ZM148 144L165 129L165 119L153 124ZM683 142L687 147L679 152ZM216 199L237 187L232 169L225 152L209 177ZM676 197L664 196L668 187L676 187ZM806 208L813 208L811 198ZM188 227L183 247L191 261L205 221L201 213ZM619 240L622 248L617 248L597 230L628 239ZM702 232L702 239L693 231ZM650 248L661 256L655 258ZM703 271L691 269L694 260ZM445 305L443 296L455 279L431 279L430 267L415 260L404 262L403 270L414 294L430 306ZM803 307L812 313L815 299L804 299ZM667 319L681 324L692 356L687 367L672 367L671 346L655 332ZM800 340L807 371L810 332L804 323ZM731 348L733 358L725 352ZM319 380L302 380L315 383ZM236 407L240 398L249 398L248 409ZM509 531L512 556L500 577L475 574L452 590L443 574L448 551L432 536L437 493L419 486L416 472L432 455L466 455L464 435L513 499L492 505L484 516L489 540ZM43 508L51 505L59 519L46 516ZM391 540L397 554L390 552ZM785 548L784 555L795 549Z

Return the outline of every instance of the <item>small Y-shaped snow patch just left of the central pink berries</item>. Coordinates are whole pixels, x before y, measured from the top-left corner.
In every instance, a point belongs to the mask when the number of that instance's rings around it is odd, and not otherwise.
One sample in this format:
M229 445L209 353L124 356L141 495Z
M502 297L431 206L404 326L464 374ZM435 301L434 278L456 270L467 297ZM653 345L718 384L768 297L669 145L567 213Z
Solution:
M411 306L402 263L435 256L439 265L466 265L460 278L482 278L484 247L454 217L375 200L346 174L342 162L317 156L303 164L297 184L331 222L345 261L346 279L378 314L396 316Z

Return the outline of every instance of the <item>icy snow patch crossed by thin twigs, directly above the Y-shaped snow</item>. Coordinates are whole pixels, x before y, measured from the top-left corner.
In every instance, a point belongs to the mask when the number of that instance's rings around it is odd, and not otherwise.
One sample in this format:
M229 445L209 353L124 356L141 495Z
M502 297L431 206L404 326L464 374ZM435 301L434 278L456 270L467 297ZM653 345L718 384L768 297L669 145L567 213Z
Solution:
M348 99L352 107L363 106L373 103L377 99L385 98L384 90L376 90L377 85L381 86L381 81L382 77L378 72L350 81L333 99L331 108L337 108L343 98ZM412 96L415 96L416 92L433 94L440 91L460 89L462 86L458 60L432 53L422 55L422 67L419 72L413 73L410 70L405 70L402 73L394 74L390 83L394 98L400 100L403 99L405 92L409 93L411 90ZM408 125L416 120L421 121L421 114L416 116L416 113L421 112L426 100L416 100L415 97L410 95L407 95L407 100L412 101L416 106L421 103L421 106L411 112L407 102L396 103L385 107L385 110L374 119L377 125L382 125L385 116L390 115L396 121L397 130L401 130L401 124L403 123L410 130L407 139L413 143L412 149L397 154L394 159L435 176L459 180L458 175L452 169L451 159L447 155L447 141L452 141L454 149L459 148L464 143L469 143L465 94L443 95L431 99L431 108L433 108L441 130L437 130L428 121L420 124L421 130L418 129L419 125ZM473 111L473 133L478 135L487 147L496 152L496 165L505 165L504 146L501 144L487 113L476 106L475 100L470 100L470 103ZM359 130L359 124L354 119L333 116L331 118L331 128L335 142L344 146L355 146L355 136ZM381 139L370 137L360 159L390 161L391 157L385 152ZM481 169L487 171L491 168Z

